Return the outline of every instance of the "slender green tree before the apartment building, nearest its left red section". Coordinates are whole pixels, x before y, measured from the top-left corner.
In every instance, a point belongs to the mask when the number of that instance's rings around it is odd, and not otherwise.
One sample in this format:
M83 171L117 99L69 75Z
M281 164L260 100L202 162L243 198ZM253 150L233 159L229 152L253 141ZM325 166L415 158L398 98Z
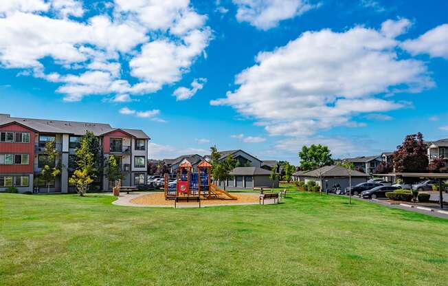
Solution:
M45 181L47 186L47 191L49 192L49 183L54 181L58 175L60 175L60 160L59 153L56 150L56 143L54 141L49 141L45 143L44 153L44 166L42 167L41 173L39 173L39 179Z

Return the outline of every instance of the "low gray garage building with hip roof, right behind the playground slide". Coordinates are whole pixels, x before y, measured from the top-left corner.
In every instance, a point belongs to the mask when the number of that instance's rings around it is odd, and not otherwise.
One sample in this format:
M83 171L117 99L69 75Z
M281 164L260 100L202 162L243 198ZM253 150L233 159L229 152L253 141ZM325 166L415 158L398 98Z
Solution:
M219 187L224 188L247 188L272 187L272 180L269 178L271 171L260 167L236 167L230 172L232 179L227 182L219 181ZM273 187L278 188L278 178L273 181Z

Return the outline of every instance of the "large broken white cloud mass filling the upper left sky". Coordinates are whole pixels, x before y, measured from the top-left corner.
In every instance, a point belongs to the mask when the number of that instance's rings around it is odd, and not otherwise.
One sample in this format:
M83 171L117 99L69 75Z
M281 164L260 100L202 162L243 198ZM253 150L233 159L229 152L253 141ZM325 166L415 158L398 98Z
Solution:
M66 101L92 94L146 94L180 80L211 39L207 17L188 0L110 4L111 15L81 20L76 18L87 8L82 1L5 1L0 5L1 67L58 83ZM43 58L51 58L58 72L47 74ZM131 67L128 74L122 61ZM139 81L123 79L129 75Z

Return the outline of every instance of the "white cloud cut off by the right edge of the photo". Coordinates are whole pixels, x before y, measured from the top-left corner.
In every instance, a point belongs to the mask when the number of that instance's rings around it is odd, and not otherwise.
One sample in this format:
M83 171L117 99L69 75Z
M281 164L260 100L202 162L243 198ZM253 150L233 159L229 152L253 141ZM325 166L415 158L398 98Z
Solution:
M432 58L448 60L448 24L439 25L414 40L407 40L401 47L412 55L429 54Z

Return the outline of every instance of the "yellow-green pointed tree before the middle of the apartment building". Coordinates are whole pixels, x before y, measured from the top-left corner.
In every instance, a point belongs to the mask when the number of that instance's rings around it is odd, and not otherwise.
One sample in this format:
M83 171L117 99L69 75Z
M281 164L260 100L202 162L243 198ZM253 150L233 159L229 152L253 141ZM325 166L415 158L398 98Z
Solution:
M93 178L97 173L94 166L93 153L89 148L89 139L83 136L80 140L80 146L76 148L76 170L69 179L69 183L76 186L76 190L81 197L87 192L87 188L93 182Z

